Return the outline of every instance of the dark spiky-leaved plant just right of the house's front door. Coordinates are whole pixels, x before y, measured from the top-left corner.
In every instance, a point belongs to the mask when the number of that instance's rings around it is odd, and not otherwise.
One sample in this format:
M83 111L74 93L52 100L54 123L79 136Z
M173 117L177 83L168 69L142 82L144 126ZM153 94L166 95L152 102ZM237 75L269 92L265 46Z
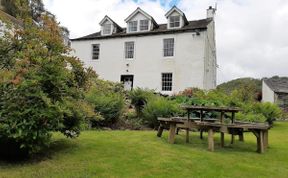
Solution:
M149 98L154 97L154 91L149 89L136 88L129 92L128 96L131 100L131 104L136 109L137 116L141 117L145 104L147 104Z

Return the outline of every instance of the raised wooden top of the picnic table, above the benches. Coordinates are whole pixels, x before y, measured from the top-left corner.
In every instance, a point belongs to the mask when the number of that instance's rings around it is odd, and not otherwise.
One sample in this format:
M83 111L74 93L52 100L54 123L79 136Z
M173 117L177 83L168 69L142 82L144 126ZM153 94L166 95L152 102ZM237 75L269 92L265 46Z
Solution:
M218 112L239 112L240 108L235 107L216 107L216 106L193 106L193 105L182 105L183 109L188 111L218 111Z

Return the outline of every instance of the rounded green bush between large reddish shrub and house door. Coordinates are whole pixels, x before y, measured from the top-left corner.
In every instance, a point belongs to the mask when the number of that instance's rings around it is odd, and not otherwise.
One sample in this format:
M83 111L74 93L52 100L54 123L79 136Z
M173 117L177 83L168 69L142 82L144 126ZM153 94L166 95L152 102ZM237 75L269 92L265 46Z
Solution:
M121 84L95 80L93 86L86 94L95 112L103 119L92 120L92 126L111 127L121 117L124 109L124 90Z

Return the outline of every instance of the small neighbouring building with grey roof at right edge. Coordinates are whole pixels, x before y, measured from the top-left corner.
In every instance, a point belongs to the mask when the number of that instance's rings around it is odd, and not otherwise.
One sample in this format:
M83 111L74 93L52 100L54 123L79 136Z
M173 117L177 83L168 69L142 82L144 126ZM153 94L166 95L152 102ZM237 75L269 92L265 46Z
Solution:
M262 95L263 102L275 103L288 111L288 77L264 79Z

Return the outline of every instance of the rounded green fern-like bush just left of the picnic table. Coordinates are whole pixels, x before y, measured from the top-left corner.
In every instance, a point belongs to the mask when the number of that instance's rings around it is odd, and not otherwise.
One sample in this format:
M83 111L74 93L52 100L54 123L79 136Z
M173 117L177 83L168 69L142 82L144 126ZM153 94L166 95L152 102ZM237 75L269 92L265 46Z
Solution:
M153 99L148 100L143 109L144 123L152 128L156 128L159 123L158 117L171 117L181 114L181 110L178 103L172 100L168 100L164 97L156 96Z

